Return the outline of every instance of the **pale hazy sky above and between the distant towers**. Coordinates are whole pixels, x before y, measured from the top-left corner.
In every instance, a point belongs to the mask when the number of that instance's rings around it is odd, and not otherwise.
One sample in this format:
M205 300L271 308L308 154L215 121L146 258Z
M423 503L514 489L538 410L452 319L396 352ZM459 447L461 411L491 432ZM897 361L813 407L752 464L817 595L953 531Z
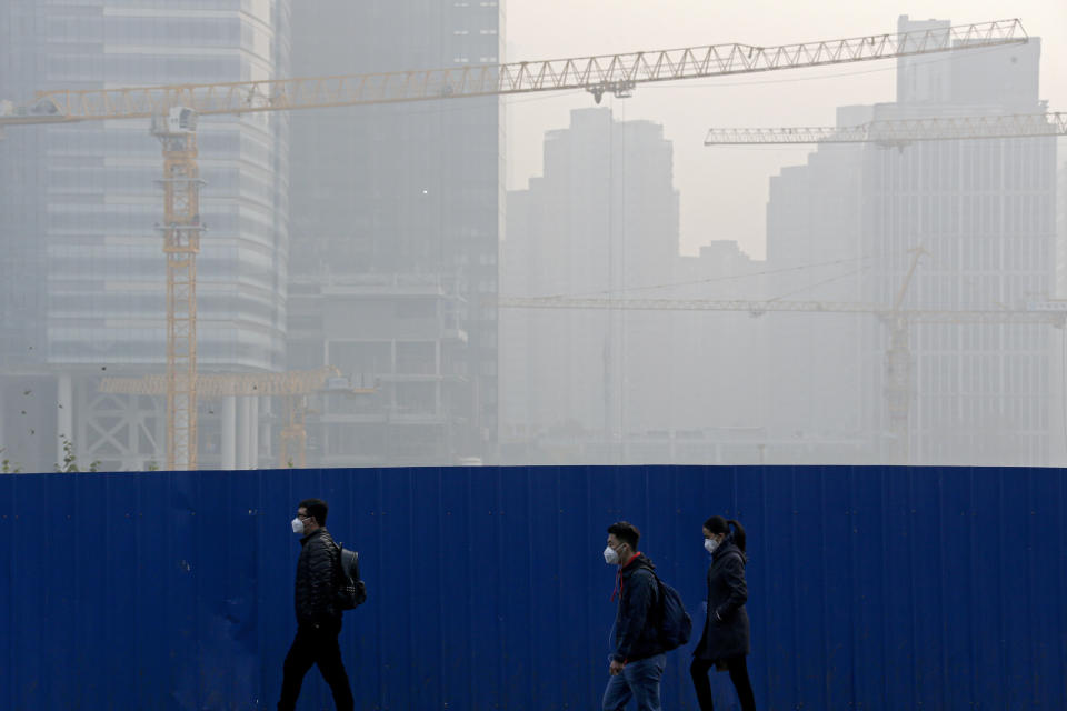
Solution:
M510 0L505 10L507 61L896 32L900 14L953 24L1019 18L1027 34L1041 38L1041 98L1049 110L1067 111L1067 0ZM662 123L674 142L684 252L732 239L762 258L768 179L802 163L810 148L705 148L707 129L830 126L838 106L894 101L895 67L880 60L646 84L604 106L617 118ZM566 127L571 109L595 104L588 93L569 92L515 97L507 106L508 188L521 189L541 173L545 131Z

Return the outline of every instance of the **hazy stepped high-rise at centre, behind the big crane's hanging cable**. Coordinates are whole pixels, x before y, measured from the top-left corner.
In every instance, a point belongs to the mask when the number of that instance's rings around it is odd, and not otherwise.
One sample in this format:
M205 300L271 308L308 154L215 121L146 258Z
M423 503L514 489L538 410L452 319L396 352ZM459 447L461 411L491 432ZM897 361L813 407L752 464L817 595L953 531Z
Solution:
M624 298L669 282L679 197L662 127L618 121L607 108L570 118L546 136L544 176L508 196L507 292ZM512 430L571 430L619 444L665 422L656 347L669 342L666 314L511 311L506 319Z

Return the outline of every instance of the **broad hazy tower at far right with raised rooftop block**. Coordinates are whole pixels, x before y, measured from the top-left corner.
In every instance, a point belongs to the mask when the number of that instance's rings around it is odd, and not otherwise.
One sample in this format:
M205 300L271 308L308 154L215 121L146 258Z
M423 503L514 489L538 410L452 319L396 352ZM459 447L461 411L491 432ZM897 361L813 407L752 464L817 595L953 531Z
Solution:
M901 32L933 27L948 22L899 22ZM1043 111L1039 54L1040 40L1030 38L944 60L900 59L897 101L871 107L869 118ZM795 184L825 190L816 157L831 153L845 157L840 168L855 178L831 189L838 202L824 202L822 229L809 239L858 260L859 300L890 306L901 296L911 309L1018 309L1053 293L1055 139L820 148ZM790 212L784 196L772 196L768 214L778 218L768 220L769 246L781 240L778 226ZM923 256L908 281L917 250ZM828 368L858 364L859 421L878 461L1050 463L1059 401L1049 387L1049 327L908 322L894 329L866 320L859 332L858 352L846 347Z

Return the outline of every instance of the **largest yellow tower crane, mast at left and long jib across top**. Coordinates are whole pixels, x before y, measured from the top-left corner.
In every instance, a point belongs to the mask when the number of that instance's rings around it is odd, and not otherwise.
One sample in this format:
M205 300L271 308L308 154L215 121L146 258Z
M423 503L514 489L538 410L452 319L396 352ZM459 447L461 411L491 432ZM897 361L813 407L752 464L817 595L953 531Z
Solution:
M167 468L197 464L196 256L202 226L198 203L198 116L290 111L373 103L581 89L599 103L647 82L828 67L848 62L966 51L1027 41L1021 22L999 20L911 32L774 47L714 44L507 64L228 83L40 92L16 106L0 102L6 127L151 119L163 143L167 193Z

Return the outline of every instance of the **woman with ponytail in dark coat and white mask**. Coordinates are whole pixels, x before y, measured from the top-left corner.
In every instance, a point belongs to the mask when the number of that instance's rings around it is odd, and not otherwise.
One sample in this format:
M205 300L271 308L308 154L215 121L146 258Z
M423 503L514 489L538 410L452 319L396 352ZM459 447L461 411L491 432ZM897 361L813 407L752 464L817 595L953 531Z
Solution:
M708 617L689 667L697 701L700 711L712 711L715 704L711 702L708 671L716 667L730 672L741 711L756 711L745 660L749 652L748 612L745 610L745 601L748 600L745 529L737 521L714 515L704 522L704 548L711 553L711 565L708 567Z

